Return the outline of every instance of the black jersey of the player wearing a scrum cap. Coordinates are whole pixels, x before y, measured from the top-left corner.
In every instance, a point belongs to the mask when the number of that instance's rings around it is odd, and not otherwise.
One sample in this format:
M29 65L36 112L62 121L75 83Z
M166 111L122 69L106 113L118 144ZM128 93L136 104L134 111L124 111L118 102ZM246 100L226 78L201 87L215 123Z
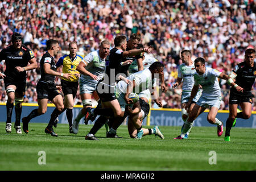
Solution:
M11 45L2 49L0 52L0 62L5 60L6 64L5 75L15 78L15 80L26 79L26 71L18 72L15 67L26 67L28 61L34 57L34 53L23 44L19 49L15 49L13 45Z

